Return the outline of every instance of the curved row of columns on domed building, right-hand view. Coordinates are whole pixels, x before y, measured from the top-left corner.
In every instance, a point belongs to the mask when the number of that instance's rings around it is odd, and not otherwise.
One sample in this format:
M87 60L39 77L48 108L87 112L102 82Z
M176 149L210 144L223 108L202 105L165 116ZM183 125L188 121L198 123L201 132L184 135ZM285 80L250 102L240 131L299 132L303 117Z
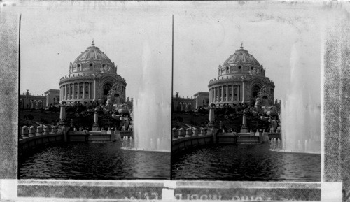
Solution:
M228 101L245 102L245 83L240 85L216 85L209 89L209 103L220 103Z

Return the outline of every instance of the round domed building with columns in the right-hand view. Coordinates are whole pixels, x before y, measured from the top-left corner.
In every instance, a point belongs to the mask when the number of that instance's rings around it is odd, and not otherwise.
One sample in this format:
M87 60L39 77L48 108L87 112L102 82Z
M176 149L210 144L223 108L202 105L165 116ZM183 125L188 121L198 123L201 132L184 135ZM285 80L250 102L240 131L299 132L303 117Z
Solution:
M216 106L255 103L258 96L264 106L274 103L274 82L265 76L265 68L242 45L218 66L218 78L210 80L208 87L209 103Z

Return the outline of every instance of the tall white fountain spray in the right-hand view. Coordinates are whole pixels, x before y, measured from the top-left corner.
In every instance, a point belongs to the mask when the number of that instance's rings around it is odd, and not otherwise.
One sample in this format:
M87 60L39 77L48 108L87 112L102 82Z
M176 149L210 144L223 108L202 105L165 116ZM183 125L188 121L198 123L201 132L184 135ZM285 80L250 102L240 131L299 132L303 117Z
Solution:
M311 99L311 78L304 68L297 67L299 57L293 47L291 57L291 89L281 105L282 150L285 152L321 153L320 99ZM298 62L298 63L297 63Z

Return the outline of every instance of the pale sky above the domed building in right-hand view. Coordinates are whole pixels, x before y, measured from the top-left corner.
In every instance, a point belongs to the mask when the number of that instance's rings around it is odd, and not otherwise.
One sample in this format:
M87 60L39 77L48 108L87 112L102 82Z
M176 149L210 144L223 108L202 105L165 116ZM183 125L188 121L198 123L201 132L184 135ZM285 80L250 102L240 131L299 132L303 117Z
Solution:
M209 80L218 77L218 66L243 43L274 81L275 99L285 100L293 84L302 82L305 94L320 103L325 21L319 7L312 6L319 4L247 2L197 6L176 16L174 92L184 97L208 92ZM293 74L296 78L291 78L293 68L299 73Z

